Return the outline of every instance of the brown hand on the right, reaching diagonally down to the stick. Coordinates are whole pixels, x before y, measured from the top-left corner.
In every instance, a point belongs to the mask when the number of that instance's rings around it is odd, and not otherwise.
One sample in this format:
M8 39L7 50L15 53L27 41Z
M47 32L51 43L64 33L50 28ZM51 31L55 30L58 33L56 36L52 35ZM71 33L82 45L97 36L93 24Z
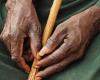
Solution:
M44 68L36 74L37 79L52 75L80 59L98 29L100 29L100 8L96 6L58 25L40 51L39 55L46 57L36 64L36 67Z

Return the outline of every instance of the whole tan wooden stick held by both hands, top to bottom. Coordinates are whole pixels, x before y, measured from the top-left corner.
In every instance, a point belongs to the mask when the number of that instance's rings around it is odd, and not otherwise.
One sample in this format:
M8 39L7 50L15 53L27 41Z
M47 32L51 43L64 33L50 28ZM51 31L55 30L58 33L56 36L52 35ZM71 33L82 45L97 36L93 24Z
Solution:
M51 7L50 14L48 17L48 21L47 21L47 24L46 24L46 27L45 27L44 33L43 33L43 40L42 40L43 46L46 44L47 39L50 37L50 35L52 33L61 3L62 3L62 0L54 0L54 2L53 2L53 5ZM39 57L39 56L37 55L37 57ZM38 69L36 69L34 67L34 65L37 63L37 61L38 60L34 60L34 62L32 64L32 68L31 68L28 80L36 80L35 75L38 72Z

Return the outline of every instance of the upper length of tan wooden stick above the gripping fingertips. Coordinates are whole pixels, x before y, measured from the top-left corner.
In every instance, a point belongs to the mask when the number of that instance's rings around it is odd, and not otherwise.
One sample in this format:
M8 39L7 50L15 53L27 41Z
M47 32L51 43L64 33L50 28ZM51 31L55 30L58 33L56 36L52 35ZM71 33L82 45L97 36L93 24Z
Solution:
M43 39L42 39L43 45L46 44L48 38L50 37L50 35L52 33L61 3L62 3L62 0L54 0L54 2L53 2L51 11L49 14L49 18L48 18L48 21L47 21L47 24L46 24L46 27L45 27L44 33L43 33Z

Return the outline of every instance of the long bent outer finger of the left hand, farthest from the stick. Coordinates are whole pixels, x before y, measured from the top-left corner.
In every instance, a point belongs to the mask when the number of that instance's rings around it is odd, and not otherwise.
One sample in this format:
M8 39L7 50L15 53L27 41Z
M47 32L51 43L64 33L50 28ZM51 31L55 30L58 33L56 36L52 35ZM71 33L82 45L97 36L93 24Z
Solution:
M11 42L11 58L18 64L20 68L25 70L27 73L30 72L30 67L26 64L23 54L23 42L24 39L18 38Z

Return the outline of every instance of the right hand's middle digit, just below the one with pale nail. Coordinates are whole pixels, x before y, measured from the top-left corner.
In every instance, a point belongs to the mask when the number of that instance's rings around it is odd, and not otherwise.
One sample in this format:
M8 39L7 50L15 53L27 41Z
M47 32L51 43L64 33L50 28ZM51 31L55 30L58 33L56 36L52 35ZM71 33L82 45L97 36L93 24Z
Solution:
M70 45L63 43L56 51L52 54L48 55L47 57L40 60L36 66L38 67L46 67L52 64L58 63L59 61L63 60L66 56L70 53Z

